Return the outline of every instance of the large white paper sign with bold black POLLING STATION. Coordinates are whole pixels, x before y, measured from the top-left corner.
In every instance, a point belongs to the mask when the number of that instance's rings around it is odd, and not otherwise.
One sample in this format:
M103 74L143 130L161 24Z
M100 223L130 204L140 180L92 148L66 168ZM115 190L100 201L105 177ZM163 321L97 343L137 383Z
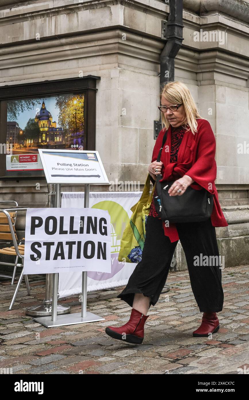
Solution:
M111 272L111 217L96 208L28 208L24 274Z

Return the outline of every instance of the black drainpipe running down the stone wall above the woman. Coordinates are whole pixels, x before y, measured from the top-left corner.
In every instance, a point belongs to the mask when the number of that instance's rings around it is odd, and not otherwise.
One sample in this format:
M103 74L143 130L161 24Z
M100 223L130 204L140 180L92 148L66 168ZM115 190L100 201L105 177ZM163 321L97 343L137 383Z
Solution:
M160 91L165 83L174 81L175 57L182 46L183 0L169 0L168 21L162 21L162 38L167 42L160 56ZM154 139L162 129L161 121L154 121Z

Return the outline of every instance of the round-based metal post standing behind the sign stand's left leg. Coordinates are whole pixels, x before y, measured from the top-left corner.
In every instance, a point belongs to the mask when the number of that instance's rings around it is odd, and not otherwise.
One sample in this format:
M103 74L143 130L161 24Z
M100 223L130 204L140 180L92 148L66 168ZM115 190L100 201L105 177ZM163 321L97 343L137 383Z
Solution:
M48 193L48 207L55 207L55 184L49 184ZM45 285L45 300L43 304L39 306L32 306L26 308L26 315L45 317L52 315L52 284L53 274L46 274L46 285ZM57 315L68 314L70 312L70 306L68 304L57 304Z

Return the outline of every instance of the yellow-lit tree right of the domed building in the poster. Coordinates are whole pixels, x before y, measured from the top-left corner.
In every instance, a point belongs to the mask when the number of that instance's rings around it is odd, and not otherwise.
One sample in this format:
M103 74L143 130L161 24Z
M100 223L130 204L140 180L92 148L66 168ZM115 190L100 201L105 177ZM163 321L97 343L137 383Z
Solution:
M59 126L69 133L69 144L73 144L73 139L82 138L84 134L84 95L58 96L55 100Z

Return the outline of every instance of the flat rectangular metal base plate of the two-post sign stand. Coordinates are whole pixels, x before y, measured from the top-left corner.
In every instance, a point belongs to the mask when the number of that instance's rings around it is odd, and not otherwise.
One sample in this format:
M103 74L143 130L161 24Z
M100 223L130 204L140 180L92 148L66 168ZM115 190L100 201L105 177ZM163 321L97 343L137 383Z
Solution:
M33 319L34 321L39 322L39 324L46 326L46 328L51 328L52 326L84 324L85 322L96 322L105 320L105 318L102 318L99 315L93 314L89 311L87 311L87 316L84 318L82 318L81 312L76 312L75 314L57 315L56 321L52 321L51 316Z

